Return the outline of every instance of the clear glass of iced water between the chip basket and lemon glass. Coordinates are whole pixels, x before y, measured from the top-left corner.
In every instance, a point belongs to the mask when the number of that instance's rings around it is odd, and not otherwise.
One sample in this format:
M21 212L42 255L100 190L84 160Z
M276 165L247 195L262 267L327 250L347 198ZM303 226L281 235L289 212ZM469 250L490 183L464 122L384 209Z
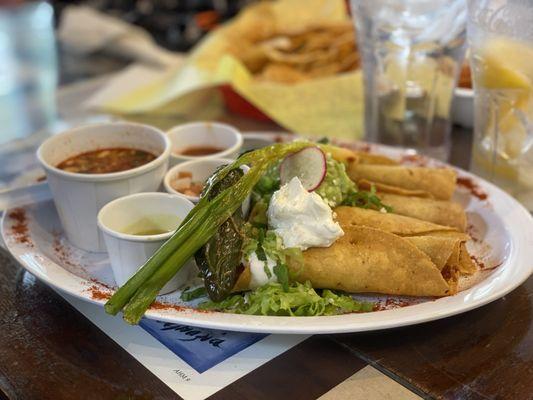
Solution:
M365 135L441 160L466 42L466 0L351 0L365 80Z

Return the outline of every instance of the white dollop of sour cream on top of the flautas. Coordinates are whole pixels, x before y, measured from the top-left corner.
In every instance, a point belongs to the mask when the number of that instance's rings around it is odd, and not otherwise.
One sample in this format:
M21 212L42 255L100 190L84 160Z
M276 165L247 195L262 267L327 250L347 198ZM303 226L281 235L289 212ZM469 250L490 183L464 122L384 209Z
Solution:
M328 247L344 235L327 203L305 190L297 177L274 192L267 216L285 248Z

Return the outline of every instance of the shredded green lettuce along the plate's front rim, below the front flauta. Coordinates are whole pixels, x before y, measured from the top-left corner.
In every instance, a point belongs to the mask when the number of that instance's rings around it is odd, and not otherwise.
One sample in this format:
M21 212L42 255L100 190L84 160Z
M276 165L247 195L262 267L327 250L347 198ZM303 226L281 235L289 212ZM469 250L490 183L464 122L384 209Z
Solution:
M218 303L200 303L199 308L248 315L311 317L369 312L373 306L332 290L316 291L306 282L293 283L287 291L280 283L269 283L251 292L231 295Z

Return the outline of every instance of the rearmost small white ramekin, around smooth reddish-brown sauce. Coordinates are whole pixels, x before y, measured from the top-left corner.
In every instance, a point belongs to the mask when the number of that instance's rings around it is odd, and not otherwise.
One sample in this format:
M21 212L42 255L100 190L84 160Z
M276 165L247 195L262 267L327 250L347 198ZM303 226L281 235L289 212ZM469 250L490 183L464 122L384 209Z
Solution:
M242 135L236 128L218 122L192 122L178 125L169 130L167 135L172 142L171 165L200 158L236 158L243 142ZM218 147L224 150L205 156L179 154L180 150L196 146Z

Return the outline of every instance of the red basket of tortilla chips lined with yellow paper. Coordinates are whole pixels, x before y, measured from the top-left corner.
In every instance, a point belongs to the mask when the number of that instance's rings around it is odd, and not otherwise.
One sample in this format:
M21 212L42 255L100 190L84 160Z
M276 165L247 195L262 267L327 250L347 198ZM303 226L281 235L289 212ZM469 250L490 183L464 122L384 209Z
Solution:
M277 0L245 8L210 33L184 65L114 99L121 114L157 110L213 88L232 112L307 135L358 138L360 56L344 0Z

